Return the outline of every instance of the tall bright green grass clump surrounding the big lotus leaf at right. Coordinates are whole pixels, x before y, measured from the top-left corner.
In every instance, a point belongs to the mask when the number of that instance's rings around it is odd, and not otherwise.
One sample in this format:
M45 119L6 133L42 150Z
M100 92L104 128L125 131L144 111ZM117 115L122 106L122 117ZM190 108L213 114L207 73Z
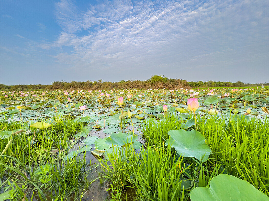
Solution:
M241 178L269 195L267 120L198 117L197 130L212 150L206 162L178 156L173 148L165 146L168 131L182 128L184 122L174 114L145 121L141 129L146 139L144 149L137 152L126 147L124 152L101 160L103 177L118 191L134 188L136 199L145 201L189 200L192 188L208 186L218 174Z

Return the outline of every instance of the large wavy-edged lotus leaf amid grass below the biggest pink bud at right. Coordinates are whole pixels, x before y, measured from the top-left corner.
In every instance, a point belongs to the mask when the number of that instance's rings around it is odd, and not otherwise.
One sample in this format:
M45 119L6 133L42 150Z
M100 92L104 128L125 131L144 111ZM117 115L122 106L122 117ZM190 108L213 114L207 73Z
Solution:
M170 137L166 140L165 145L170 144L179 155L195 157L198 160L203 158L202 161L206 161L211 154L211 149L205 143L204 136L198 131L170 130L168 135Z

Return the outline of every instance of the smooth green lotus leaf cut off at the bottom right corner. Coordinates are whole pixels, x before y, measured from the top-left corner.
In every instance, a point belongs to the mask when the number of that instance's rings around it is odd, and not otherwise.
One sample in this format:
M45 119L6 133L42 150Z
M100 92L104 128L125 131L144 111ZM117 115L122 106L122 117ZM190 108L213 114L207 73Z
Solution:
M268 201L269 197L247 181L228 174L219 174L209 187L196 187L190 193L192 201Z

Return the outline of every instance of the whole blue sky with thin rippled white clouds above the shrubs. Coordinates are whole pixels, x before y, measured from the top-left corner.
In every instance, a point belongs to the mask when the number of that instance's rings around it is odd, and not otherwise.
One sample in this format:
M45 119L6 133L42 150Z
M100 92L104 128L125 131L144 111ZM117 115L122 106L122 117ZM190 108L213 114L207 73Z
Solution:
M0 83L269 82L269 1L0 1Z

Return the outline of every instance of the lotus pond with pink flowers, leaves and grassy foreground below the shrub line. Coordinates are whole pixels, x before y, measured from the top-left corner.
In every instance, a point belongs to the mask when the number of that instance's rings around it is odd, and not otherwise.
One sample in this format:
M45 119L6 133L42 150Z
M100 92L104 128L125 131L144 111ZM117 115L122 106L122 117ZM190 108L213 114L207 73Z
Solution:
M2 91L0 201L269 200L268 95Z

